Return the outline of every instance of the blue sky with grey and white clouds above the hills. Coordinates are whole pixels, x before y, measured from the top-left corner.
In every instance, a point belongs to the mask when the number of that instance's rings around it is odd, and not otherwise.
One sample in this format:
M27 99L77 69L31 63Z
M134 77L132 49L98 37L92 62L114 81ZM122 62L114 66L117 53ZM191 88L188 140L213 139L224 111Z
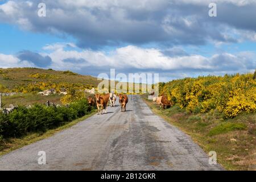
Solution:
M0 67L115 68L160 81L253 72L256 0L0 0Z

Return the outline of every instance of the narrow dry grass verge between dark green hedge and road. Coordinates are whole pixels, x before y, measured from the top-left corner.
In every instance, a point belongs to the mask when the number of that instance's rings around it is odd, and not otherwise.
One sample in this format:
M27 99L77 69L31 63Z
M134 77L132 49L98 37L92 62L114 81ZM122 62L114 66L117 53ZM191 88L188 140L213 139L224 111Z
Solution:
M51 137L60 131L63 131L65 129L68 129L69 127L72 127L76 125L77 123L84 121L84 119L87 119L94 115L96 113L96 110L92 111L92 113L85 115L84 117L81 117L79 119L76 119L72 122L66 122L60 127L56 127L55 129L47 130L45 133L28 133L24 137L20 138L9 138L9 139L3 139L0 140L0 156L5 155L13 150L16 150L18 148L21 148L23 146L26 146L28 144L38 142L39 140Z

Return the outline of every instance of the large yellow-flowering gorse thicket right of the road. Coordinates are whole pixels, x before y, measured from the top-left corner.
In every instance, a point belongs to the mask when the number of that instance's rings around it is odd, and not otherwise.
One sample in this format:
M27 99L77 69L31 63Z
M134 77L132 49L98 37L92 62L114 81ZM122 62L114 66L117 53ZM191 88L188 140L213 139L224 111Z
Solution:
M184 78L161 88L172 104L191 113L217 109L226 118L256 111L256 80L253 74Z

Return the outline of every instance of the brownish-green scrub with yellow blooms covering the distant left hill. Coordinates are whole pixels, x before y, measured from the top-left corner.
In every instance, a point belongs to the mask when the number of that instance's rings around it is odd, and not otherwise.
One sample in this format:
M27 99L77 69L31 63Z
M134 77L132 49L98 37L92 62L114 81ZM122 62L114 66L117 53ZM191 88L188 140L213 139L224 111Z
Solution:
M90 89L97 87L96 77L83 76L71 71L53 71L39 68L0 68L0 92L40 92L55 89L61 92L69 87Z

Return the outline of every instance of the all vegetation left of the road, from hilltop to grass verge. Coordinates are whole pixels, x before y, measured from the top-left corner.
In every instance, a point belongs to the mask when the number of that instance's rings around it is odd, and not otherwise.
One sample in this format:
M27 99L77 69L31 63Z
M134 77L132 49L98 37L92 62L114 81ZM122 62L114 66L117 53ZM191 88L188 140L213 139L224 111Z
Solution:
M97 78L70 71L0 69L0 92L16 92L13 96L2 96L2 107L18 106L10 114L0 112L0 155L49 137L90 116L94 108L88 105L85 99L88 94L83 91L96 87L98 82ZM55 89L56 94L38 94L49 89ZM60 96L64 91L68 94ZM70 105L47 107L47 100L55 105Z

